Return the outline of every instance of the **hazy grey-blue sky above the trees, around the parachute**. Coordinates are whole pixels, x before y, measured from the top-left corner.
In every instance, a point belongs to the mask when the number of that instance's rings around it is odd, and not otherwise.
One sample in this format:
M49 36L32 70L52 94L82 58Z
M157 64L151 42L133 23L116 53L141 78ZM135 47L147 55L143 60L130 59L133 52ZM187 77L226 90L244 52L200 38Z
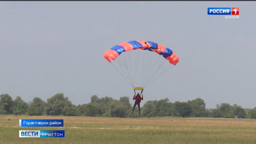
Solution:
M256 1L0 1L0 94L26 102L64 93L119 100L133 87L103 53L128 41L160 43L180 58L143 91L144 100L202 98L256 106ZM239 19L207 15L239 7ZM140 75L138 75L140 77Z

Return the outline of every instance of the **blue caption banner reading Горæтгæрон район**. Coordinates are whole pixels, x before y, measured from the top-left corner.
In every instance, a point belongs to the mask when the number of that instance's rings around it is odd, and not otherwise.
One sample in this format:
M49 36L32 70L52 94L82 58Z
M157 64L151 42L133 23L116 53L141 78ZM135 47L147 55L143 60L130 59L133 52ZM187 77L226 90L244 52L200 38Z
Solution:
M63 127L63 119L20 119L20 127Z

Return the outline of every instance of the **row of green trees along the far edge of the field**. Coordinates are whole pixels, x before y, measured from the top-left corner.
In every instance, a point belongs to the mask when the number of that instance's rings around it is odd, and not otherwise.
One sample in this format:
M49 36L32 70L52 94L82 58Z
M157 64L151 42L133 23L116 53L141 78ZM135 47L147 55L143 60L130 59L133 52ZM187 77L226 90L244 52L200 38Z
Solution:
M212 117L212 118L251 118L256 119L255 108L242 108L236 104L217 104L216 108L207 109L202 98L187 102L170 102L168 98L146 101L138 115L138 107L132 112L132 103L129 97L123 96L119 100L112 97L99 98L91 96L91 101L82 105L73 105L63 93L43 101L34 97L31 102L25 102L20 96L14 100L9 94L0 95L0 114L29 115L29 116L89 116L89 117Z

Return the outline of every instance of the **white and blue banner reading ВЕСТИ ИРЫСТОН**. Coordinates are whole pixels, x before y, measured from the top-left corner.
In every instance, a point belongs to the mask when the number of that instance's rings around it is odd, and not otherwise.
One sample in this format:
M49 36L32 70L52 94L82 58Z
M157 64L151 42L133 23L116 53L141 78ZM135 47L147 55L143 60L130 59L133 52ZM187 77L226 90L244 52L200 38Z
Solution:
M20 130L20 138L64 138L65 130Z

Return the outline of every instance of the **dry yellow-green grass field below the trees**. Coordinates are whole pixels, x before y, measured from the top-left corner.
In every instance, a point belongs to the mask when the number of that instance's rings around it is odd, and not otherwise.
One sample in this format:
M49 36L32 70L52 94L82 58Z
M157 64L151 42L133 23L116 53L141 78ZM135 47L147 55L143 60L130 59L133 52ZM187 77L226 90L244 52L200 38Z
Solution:
M7 121L7 118L10 121ZM64 127L18 127L64 119ZM65 130L65 138L19 138L19 130ZM255 144L255 119L0 116L1 144Z

